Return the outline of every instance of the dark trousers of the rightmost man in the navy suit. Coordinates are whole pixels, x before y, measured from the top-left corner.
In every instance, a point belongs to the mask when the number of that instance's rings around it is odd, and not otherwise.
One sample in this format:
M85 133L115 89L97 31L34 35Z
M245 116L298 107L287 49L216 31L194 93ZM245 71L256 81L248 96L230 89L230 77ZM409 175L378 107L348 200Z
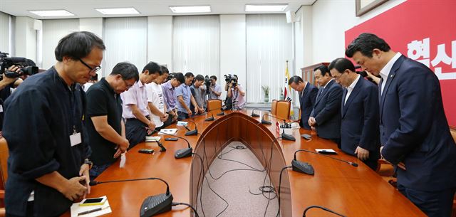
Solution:
M456 188L420 191L398 184L398 190L429 217L450 217Z

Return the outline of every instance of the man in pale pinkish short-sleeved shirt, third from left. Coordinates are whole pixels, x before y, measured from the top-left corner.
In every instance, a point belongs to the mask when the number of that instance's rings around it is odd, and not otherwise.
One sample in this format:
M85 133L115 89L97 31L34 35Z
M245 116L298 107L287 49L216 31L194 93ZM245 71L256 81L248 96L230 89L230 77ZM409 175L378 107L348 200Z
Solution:
M123 101L122 117L125 118L125 134L130 148L145 140L147 134L155 129L155 123L150 119L147 106L147 91L145 85L162 75L160 65L149 62L142 68L140 79L130 90L120 94Z

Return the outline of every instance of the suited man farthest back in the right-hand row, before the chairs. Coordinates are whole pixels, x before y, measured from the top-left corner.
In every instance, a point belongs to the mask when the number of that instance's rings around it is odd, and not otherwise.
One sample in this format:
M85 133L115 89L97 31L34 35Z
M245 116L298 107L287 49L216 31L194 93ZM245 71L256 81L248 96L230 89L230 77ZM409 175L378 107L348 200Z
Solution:
M314 109L318 88L302 80L302 78L297 75L291 77L288 84L291 88L293 88L293 90L299 92L299 103L301 105L301 120L299 121L299 126L304 129L311 129L308 121L312 109Z

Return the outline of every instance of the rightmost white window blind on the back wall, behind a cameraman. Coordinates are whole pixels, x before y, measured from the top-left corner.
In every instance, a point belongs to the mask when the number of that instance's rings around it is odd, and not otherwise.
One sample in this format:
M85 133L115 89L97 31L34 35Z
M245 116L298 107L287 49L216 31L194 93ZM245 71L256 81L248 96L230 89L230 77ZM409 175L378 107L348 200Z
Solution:
M293 72L292 29L285 14L247 15L247 102L264 102L261 86L269 86L269 102L284 90L286 60Z

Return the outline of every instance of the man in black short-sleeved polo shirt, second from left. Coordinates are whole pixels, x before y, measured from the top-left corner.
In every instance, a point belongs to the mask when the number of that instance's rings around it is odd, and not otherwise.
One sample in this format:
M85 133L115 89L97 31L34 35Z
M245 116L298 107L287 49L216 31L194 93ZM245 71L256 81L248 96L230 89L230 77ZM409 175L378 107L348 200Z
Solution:
M86 127L92 149L90 180L127 151L120 93L130 89L139 79L138 68L132 63L118 63L107 78L93 84L87 91Z

